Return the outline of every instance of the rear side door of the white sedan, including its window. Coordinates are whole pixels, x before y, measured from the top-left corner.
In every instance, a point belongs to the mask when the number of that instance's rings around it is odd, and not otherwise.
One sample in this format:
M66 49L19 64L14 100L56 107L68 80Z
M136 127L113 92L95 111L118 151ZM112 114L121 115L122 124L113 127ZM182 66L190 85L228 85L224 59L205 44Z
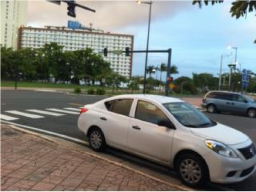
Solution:
M124 148L130 124L130 111L133 99L115 99L106 101L107 111L100 115L100 127L104 127L109 145Z

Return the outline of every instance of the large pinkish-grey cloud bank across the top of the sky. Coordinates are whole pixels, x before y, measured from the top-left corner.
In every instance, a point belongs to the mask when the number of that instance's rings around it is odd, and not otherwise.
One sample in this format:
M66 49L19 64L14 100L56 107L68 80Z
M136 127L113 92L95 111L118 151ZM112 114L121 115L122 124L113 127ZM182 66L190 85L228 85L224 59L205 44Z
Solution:
M147 25L149 5L138 5L136 1L76 1L78 4L95 9L90 12L76 8L76 18L67 15L67 4L55 5L47 1L29 2L28 24L32 27L45 25L67 26L68 20L78 20L85 26L103 30L118 29L134 25ZM193 7L189 1L154 1L152 22L175 16ZM190 9L193 10L193 9Z

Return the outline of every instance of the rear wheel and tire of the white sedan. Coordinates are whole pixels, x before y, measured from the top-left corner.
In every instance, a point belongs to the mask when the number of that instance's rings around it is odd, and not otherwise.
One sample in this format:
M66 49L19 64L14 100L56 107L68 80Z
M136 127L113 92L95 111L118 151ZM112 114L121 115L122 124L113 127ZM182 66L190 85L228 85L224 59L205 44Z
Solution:
M99 128L94 128L89 134L89 144L96 152L105 150L106 142L102 131Z

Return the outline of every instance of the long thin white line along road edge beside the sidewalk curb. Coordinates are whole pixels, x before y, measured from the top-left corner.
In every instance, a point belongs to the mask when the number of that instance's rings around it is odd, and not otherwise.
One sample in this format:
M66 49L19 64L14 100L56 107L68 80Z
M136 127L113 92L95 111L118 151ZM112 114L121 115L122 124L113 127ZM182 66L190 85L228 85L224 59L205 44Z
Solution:
M78 142L78 143L88 144L87 141L83 141L83 140L80 140L80 139L76 139L76 138L73 138L73 137L69 137L69 136L66 136L66 135L61 135L61 134L50 132L50 131L41 130L41 129L38 129L38 128L35 128L35 127L32 127L32 126L26 126L26 125L17 124L17 123L5 121L5 120L1 120L1 122L12 124L12 125L16 125L16 126L19 126L19 127L24 127L24 128L26 128L28 130L33 130L33 131L40 132L40 133L46 133L46 134L49 134L49 135L55 135L57 137L68 139L68 140L75 141L75 142Z

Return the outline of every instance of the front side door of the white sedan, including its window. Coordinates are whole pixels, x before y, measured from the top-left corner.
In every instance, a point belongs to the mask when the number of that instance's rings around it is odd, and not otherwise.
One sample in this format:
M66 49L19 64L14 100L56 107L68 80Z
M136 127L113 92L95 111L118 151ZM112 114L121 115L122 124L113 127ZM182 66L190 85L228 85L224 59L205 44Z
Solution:
M174 130L158 126L159 120L168 119L166 114L155 104L138 100L131 118L127 147L133 152L167 163L170 158Z

